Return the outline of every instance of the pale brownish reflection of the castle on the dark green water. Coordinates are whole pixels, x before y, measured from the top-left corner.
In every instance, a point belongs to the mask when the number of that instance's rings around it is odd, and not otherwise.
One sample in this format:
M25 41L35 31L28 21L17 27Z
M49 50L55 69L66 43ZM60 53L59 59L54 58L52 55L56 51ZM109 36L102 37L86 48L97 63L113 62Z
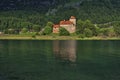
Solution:
M53 51L57 58L76 61L76 41L53 41Z

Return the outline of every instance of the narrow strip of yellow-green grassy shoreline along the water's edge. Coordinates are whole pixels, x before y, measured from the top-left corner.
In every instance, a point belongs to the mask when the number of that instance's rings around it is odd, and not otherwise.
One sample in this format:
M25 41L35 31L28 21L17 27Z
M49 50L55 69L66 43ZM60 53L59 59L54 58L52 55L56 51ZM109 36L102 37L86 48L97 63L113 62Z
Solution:
M30 35L0 35L0 40L120 40L117 37L91 37L79 38L78 36L36 36Z

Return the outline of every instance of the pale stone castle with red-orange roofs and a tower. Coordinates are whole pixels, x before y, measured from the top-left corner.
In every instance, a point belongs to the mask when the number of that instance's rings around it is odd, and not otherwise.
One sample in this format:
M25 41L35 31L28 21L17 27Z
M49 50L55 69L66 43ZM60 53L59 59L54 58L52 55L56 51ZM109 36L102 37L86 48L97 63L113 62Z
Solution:
M76 18L71 16L69 20L63 20L59 24L54 24L53 33L59 33L60 27L65 28L70 33L74 33L76 31Z

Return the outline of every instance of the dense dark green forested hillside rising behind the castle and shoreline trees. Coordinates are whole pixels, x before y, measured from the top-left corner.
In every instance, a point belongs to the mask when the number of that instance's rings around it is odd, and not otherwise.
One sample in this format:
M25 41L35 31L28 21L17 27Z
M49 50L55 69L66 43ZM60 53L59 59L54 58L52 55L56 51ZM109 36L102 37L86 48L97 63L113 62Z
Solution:
M99 28L120 26L119 4L119 0L1 0L0 31L41 30L47 22L58 23L71 15Z

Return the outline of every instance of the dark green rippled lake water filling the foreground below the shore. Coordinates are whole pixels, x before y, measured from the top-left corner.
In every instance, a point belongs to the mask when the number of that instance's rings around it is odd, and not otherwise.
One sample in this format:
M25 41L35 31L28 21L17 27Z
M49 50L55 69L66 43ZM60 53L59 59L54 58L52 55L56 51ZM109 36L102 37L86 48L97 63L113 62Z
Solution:
M0 41L0 80L120 80L120 41Z

